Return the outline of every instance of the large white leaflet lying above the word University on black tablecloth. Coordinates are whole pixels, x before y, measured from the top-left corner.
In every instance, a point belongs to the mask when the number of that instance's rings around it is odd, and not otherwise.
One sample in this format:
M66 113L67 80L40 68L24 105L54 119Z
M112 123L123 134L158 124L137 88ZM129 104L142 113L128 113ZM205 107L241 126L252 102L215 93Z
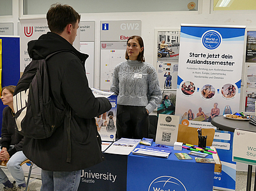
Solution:
M117 155L129 155L133 149L139 144L140 139L126 139L121 138L114 142L105 153L112 153Z

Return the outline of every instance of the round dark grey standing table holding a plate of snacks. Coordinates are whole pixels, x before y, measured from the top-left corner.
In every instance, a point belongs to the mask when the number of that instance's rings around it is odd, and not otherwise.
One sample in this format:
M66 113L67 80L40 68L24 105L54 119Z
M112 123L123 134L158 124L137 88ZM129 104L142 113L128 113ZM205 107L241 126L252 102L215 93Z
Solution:
M234 132L235 129L239 129L243 131L256 132L256 126L250 124L248 121L231 120L223 116L214 117L211 120L211 124L215 125L215 127L218 127L219 129L222 129L224 131ZM252 165L248 165L246 190L251 189L251 181L252 181ZM256 191L256 178L254 183L254 190Z

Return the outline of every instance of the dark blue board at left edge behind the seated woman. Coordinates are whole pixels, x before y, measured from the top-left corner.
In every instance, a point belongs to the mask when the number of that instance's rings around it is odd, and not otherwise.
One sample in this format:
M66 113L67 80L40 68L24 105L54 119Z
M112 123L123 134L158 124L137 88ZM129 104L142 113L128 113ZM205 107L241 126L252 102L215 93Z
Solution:
M20 38L0 36L2 41L2 87L17 85L20 79ZM0 102L0 127L2 129L3 109Z

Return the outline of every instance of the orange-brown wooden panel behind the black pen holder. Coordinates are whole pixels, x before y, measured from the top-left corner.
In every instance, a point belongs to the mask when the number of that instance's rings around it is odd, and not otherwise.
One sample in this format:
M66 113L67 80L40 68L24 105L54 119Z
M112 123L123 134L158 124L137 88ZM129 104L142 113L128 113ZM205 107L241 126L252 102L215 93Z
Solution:
M202 129L202 135L207 136L206 146L211 146L215 137L215 129ZM199 140L197 128L179 124L179 130L177 132L177 142L198 145Z

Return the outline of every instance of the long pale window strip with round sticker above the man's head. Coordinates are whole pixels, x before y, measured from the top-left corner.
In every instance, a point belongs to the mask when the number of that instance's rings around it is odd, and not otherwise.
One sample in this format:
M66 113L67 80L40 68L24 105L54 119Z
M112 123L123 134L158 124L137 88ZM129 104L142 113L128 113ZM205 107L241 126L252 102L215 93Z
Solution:
M3 0L2 0L3 1ZM56 0L23 0L24 15L46 14L51 4ZM57 1L61 4L69 4L78 13L116 13L116 12L147 12L147 11L197 11L198 0L76 0L76 1ZM40 4L40 6L38 6Z

